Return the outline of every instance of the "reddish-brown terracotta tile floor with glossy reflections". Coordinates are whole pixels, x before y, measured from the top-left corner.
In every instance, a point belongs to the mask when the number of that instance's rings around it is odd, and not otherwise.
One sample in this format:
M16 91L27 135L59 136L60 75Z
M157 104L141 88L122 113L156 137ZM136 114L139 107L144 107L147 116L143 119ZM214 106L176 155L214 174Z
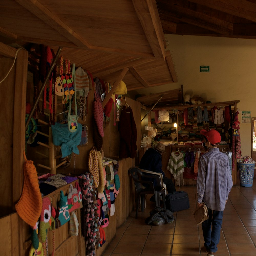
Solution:
M252 187L241 187L238 176L233 186L223 215L220 256L256 255L256 180ZM174 212L174 222L162 226L145 224L155 203L147 196L146 209L135 211L126 223L118 228L116 237L106 248L103 256L153 256L153 255L207 255L201 225L197 226L192 211L196 208L196 187L177 187L189 195L190 208Z

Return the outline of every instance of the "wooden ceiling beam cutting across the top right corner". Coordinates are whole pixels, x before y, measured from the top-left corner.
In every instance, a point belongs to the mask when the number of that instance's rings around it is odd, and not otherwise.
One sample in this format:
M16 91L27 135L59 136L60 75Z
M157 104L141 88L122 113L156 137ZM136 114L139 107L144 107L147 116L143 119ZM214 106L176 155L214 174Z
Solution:
M256 22L256 4L247 0L189 0L212 9Z

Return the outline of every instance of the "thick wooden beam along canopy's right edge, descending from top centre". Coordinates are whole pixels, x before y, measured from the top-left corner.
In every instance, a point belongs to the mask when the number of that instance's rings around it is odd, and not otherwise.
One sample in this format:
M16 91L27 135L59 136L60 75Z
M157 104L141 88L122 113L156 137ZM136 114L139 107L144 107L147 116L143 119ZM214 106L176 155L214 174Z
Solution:
M155 58L165 58L165 38L154 0L132 0Z

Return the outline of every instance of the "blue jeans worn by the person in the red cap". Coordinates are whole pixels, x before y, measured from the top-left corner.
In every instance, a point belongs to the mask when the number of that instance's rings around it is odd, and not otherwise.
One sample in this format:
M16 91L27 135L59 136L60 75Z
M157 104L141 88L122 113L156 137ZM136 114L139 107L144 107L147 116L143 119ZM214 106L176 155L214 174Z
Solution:
M205 240L204 245L209 252L217 252L217 245L220 241L223 211L214 211L208 208L208 213L209 219L202 223L203 236Z

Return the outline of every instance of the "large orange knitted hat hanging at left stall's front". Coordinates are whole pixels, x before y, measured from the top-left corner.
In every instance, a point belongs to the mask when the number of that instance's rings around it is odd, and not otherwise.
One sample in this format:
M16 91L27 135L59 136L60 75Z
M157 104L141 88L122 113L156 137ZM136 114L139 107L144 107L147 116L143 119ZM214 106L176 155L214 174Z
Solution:
M42 211L42 196L39 189L36 167L33 161L27 160L25 151L23 155L25 159L23 164L24 182L22 194L15 205L15 209L20 218L31 227L34 227Z

